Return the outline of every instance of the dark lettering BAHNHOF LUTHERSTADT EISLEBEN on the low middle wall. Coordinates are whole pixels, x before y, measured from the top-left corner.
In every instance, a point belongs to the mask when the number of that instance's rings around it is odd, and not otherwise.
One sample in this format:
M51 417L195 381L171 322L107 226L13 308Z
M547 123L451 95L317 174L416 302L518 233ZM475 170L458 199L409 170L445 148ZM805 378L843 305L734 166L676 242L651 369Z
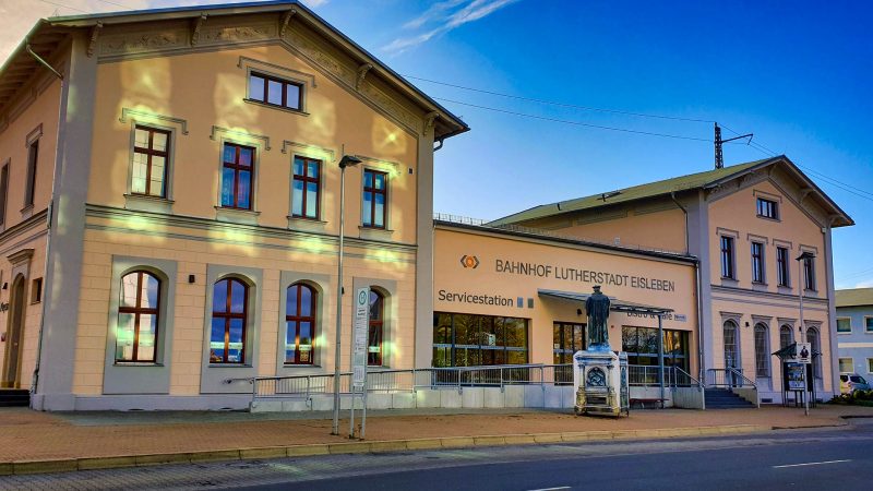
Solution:
M621 275L602 271L582 270L577 267L552 266L551 264L527 263L524 261L495 260L494 271L505 274L565 279L577 283L590 283L595 285L602 285L605 287L630 286L631 288L642 288L646 290L675 291L675 282L669 279Z

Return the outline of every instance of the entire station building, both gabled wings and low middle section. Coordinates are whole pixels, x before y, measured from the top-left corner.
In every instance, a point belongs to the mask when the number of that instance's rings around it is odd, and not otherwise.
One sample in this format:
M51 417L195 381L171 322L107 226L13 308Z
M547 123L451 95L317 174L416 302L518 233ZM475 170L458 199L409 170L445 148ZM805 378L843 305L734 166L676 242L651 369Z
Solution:
M633 364L662 343L773 398L765 355L806 336L834 391L851 219L788 158L434 220L433 152L468 129L296 2L40 21L0 69L0 384L44 410L219 409L332 373L355 155L343 288L371 289L371 370L566 363L599 284Z

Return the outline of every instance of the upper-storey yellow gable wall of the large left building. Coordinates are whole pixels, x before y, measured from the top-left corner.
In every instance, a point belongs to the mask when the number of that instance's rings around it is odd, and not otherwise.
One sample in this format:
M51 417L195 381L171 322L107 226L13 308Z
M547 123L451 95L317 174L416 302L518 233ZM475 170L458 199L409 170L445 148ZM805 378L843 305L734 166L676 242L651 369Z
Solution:
M316 86L304 87L308 115L243 101L248 97L248 75L240 68L241 57L314 76ZM254 209L260 212L259 225L288 227L294 153L321 156L318 149L301 151L297 146L288 146L288 153L282 153L283 142L290 141L334 152L335 160L322 164L324 232L338 232L339 169L336 164L345 148L347 154L393 163L367 160L348 169L346 232L358 235L361 167L374 166L378 170L390 171L388 228L394 232L384 240L416 242L417 135L402 130L280 46L104 63L97 69L96 92L99 96L94 113L89 203L124 206L131 124L122 123L120 118L123 108L132 108L187 121L190 133L178 133L172 151L174 214L216 215L220 139L210 137L216 125L270 137L271 149L261 153L255 169Z

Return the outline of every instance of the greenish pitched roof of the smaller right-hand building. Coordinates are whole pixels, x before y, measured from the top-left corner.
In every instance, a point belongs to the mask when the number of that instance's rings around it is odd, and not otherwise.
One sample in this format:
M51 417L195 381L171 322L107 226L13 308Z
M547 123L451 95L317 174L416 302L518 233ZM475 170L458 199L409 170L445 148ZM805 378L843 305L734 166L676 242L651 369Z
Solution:
M853 225L851 218L839 208L830 199L818 189L806 176L797 168L785 155L778 157L765 158L762 160L753 160L744 164L738 164L721 169L713 169L704 172L690 173L686 176L679 176L671 179L661 181L649 182L646 184L634 185L624 188L617 191L606 193L591 194L585 197L577 197L574 200L560 201L558 203L550 203L533 208L525 209L513 215L499 218L491 221L491 225L509 225L529 221L538 218L546 218L549 216L561 215L565 213L581 212L585 209L593 209L600 206L611 206L618 203L627 203L637 200L645 200L649 197L657 197L669 195L673 192L686 191L693 189L708 189L718 185L722 182L729 181L739 177L740 175L751 172L762 167L767 167L777 163L786 163L789 168L805 183L817 192L818 196L825 206L828 206L833 213L845 218L842 223L835 226Z

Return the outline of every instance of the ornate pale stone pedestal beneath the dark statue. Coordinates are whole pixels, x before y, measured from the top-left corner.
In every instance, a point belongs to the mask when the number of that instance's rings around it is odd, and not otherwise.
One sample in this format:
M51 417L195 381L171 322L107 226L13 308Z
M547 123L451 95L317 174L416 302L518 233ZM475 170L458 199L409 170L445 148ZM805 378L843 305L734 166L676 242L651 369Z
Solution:
M573 386L576 388L576 415L631 415L627 384L627 354L587 350L573 355Z

